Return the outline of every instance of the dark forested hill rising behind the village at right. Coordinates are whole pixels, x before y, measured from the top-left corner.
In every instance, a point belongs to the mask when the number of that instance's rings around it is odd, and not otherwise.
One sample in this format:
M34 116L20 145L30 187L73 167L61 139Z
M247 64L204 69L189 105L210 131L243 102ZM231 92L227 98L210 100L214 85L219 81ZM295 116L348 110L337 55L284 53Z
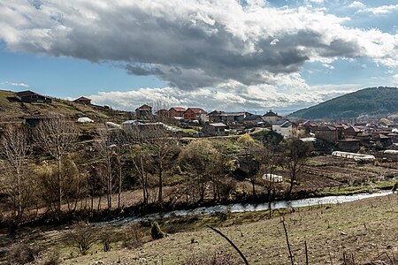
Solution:
M384 116L398 112L396 87L370 87L341 95L288 115L292 119L341 119L360 115Z

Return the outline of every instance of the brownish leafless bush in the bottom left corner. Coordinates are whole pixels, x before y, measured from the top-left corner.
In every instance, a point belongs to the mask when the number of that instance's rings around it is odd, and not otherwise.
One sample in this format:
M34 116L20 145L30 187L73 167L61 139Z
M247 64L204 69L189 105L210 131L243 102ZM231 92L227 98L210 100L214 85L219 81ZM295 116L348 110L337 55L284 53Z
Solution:
M18 242L11 245L7 254L7 264L26 264L35 261L42 252L39 245L27 245L24 242Z

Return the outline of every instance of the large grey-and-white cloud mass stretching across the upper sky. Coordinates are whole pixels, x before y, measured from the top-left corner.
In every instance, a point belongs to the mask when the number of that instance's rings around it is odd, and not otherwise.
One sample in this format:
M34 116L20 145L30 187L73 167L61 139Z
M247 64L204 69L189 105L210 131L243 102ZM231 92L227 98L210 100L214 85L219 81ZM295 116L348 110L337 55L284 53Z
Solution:
M396 34L345 27L347 20L258 0L15 0L0 3L0 39L11 50L109 61L186 90L270 84L272 75L337 57L398 65Z

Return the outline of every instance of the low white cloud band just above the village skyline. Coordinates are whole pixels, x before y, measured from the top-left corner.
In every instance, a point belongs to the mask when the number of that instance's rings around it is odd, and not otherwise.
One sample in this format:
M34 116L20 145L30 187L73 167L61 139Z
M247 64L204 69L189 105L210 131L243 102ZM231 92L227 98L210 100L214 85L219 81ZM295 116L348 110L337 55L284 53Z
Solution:
M278 80L279 86L241 86L230 82L218 88L181 91L176 87L140 88L127 92L100 92L88 95L94 103L120 110L135 110L142 103L162 102L166 107L200 107L204 110L257 110L270 108L298 110L359 89L358 85L308 86L299 75Z

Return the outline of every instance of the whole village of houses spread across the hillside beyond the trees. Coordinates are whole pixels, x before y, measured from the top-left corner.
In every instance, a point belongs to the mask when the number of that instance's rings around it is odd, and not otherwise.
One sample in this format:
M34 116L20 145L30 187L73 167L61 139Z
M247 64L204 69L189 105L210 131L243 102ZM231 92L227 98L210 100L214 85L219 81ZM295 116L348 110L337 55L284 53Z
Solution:
M50 103L51 98L31 91L16 93L16 98L21 102ZM91 100L81 96L73 102L83 105L101 107L91 104ZM24 123L37 125L43 116L23 117ZM79 117L79 123L94 123L90 117ZM201 108L172 107L169 110L152 110L149 104L143 104L132 113L132 119L118 125L112 121L104 122L113 128L121 128L128 132L132 127L140 127L142 137L150 137L150 130L154 125L166 126L172 133L179 133L181 137L215 137L239 135L261 130L272 130L279 133L284 139L297 138L309 141L318 148L325 150L340 150L345 152L358 152L361 148L370 150L386 150L394 154L398 149L398 124L396 120L388 122L383 119L371 123L348 122L314 122L310 120L289 120L278 115L272 110L264 115L249 112L226 112L213 110L206 112ZM166 124L169 125L166 125ZM392 150L390 150L392 149Z

